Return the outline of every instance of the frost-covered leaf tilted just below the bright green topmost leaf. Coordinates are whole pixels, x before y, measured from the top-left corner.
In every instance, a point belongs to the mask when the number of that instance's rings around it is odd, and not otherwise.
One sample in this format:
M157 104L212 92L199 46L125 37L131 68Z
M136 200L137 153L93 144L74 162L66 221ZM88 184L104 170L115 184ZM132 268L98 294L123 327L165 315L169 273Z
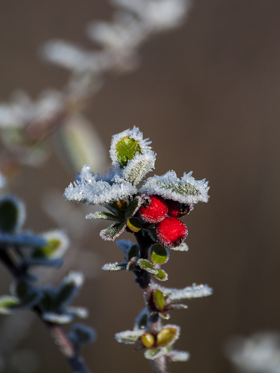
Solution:
M147 150L145 154L138 154L133 159L128 160L127 166L122 169L122 177L137 185L141 179L151 171L155 165L156 154Z

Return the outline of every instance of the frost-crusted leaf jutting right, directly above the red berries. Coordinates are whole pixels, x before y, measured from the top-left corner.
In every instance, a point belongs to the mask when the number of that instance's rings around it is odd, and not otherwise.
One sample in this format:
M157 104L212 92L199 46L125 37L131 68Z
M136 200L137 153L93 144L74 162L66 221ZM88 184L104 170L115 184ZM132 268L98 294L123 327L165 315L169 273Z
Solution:
M192 172L184 173L180 179L174 171L168 171L162 176L155 175L145 181L139 188L140 193L161 195L169 200L185 204L208 201L208 182L205 179L195 180Z

